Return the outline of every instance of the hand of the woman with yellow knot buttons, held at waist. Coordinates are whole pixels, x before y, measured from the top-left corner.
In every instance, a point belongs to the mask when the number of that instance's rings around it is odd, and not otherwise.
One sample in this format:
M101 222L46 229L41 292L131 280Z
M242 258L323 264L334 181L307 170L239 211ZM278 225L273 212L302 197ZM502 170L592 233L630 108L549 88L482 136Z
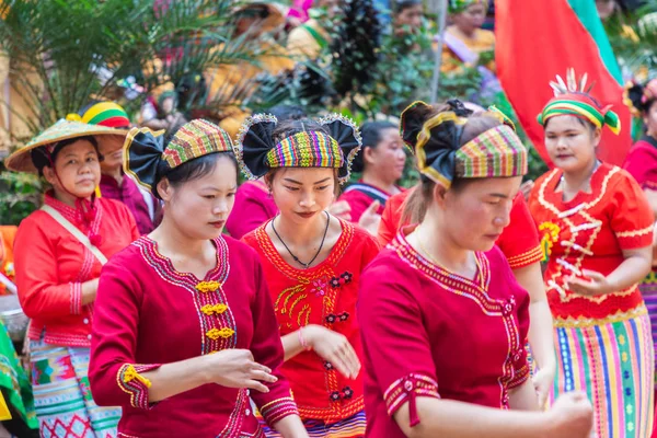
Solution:
M274 383L278 379L272 370L253 359L247 349L223 349L203 356L205 358L206 381L227 388L249 388L269 392L262 382Z

